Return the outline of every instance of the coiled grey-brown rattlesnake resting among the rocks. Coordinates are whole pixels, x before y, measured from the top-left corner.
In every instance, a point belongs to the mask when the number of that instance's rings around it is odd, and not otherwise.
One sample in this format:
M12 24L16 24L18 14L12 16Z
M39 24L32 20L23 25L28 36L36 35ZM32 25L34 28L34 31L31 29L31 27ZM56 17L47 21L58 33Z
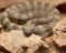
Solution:
M8 7L1 14L6 30L22 29L26 34L50 35L61 13L51 3L26 1Z

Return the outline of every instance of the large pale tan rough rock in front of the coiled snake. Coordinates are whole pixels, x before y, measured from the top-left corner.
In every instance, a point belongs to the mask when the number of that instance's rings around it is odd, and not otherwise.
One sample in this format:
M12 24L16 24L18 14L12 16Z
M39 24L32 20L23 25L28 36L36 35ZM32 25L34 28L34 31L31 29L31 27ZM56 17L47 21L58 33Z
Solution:
M11 53L34 53L41 45L48 47L41 36L33 34L26 38L22 31L14 30L0 34L0 45Z

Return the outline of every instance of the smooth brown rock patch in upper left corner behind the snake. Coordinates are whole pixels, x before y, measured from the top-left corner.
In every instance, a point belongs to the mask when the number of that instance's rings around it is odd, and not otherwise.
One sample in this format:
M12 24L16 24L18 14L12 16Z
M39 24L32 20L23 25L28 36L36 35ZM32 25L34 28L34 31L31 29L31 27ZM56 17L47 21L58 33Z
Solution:
M24 0L11 0L11 1L10 0L0 0L0 9L19 3L21 1L24 1Z

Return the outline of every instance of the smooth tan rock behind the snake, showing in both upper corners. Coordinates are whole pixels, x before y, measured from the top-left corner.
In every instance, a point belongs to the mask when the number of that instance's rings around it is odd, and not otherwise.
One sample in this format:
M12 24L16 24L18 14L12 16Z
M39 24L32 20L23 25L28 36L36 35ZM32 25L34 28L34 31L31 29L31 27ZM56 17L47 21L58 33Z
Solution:
M22 1L25 1L25 0L0 0L0 9L14 4L14 3L22 2ZM54 6L58 6L61 3L66 2L66 0L37 0L37 1L45 1L45 2L52 3Z

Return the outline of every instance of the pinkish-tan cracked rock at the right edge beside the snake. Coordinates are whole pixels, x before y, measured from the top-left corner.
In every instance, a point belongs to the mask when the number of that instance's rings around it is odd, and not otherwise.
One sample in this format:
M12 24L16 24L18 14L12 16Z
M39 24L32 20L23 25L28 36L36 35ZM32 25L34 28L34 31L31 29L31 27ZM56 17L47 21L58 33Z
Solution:
M61 20L53 29L53 40L58 46L66 46L66 18Z

